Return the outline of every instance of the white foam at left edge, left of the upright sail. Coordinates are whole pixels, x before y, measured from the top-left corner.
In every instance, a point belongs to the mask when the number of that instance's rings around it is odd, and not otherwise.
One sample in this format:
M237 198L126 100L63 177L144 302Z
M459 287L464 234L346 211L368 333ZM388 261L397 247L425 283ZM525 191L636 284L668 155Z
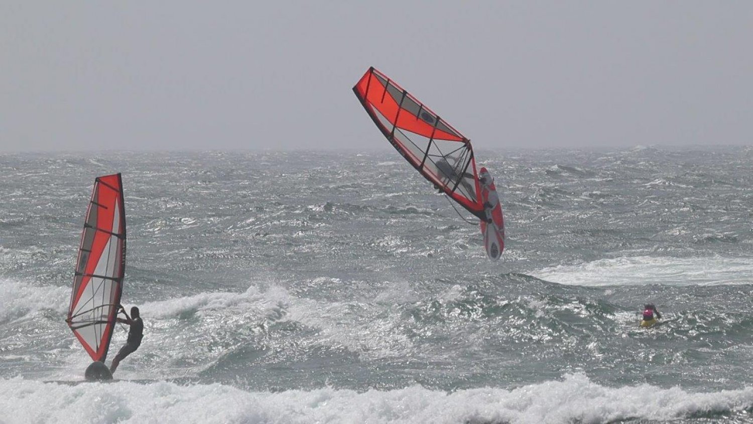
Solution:
M19 319L40 310L65 313L71 289L38 286L29 282L0 279L0 322Z

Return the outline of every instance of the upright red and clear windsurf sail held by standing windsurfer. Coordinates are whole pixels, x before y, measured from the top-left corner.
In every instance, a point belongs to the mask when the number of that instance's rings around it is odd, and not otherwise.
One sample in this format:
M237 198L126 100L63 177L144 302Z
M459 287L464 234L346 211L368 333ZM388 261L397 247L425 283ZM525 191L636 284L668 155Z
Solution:
M118 173L94 180L66 319L94 361L107 357L125 267L126 213Z

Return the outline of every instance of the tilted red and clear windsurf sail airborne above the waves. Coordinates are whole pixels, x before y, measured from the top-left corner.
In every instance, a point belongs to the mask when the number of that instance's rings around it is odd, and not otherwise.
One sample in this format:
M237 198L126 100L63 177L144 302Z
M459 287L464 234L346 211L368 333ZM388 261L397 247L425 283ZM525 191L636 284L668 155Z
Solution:
M353 92L374 124L421 175L469 212L486 219L468 138L373 67Z

